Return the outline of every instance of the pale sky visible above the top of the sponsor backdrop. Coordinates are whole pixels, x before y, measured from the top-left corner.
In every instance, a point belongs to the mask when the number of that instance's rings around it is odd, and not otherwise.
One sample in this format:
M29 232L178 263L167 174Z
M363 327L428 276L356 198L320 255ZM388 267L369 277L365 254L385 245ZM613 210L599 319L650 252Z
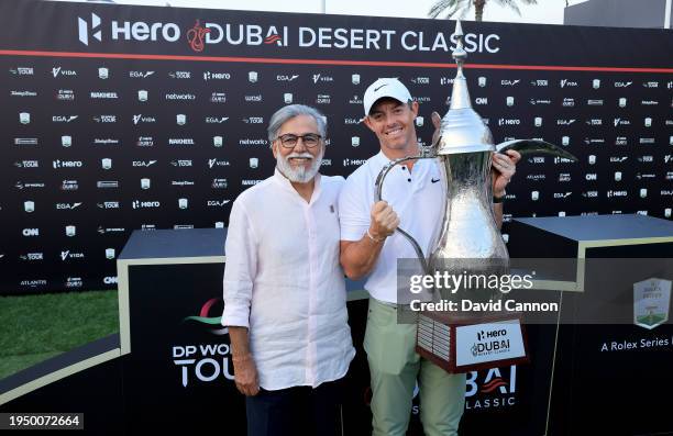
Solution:
M345 15L427 18L428 11L435 0L115 0L120 4L166 5L179 8L238 9L275 12L309 12ZM577 4L586 0L570 0ZM521 5L521 15L508 8L503 8L494 0L488 1L484 10L484 21L510 23L563 24L565 0L538 0L537 5ZM474 20L474 12L465 16Z

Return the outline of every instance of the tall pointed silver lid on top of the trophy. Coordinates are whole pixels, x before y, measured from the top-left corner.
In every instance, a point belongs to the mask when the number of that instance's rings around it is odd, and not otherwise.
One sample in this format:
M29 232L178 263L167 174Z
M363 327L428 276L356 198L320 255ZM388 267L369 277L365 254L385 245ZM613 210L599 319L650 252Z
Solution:
M437 144L438 155L456 153L495 152L493 135L478 113L472 109L467 80L463 75L463 64L467 52L463 47L463 29L460 20L455 23L457 41L453 51L456 74L451 93L451 107L442 119L440 137Z

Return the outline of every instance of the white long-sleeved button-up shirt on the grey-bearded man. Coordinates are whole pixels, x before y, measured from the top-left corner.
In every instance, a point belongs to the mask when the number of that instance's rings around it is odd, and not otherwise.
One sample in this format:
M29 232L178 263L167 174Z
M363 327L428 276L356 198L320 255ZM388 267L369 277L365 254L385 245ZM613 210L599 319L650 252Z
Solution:
M266 390L338 380L355 355L339 265L343 182L317 175L307 202L276 169L233 203L222 325L249 327Z

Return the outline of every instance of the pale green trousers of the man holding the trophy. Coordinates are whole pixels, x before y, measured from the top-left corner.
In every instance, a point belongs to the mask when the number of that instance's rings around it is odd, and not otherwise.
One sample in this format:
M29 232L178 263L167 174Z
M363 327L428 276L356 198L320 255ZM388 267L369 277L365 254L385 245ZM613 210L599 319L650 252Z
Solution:
M373 436L406 434L417 381L426 435L457 435L465 374L448 373L416 354L415 346L416 324L398 324L396 308L371 298L364 348L372 379Z

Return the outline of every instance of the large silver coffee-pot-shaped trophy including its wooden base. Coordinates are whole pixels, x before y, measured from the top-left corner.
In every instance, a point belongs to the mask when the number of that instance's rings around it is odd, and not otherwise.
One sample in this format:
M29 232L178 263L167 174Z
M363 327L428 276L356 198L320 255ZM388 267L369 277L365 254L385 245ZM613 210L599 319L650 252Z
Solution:
M427 257L416 239L402 228L398 227L397 232L413 246L426 275L449 272L459 276L467 270L475 275L501 276L509 271L509 254L493 211L492 153L515 149L522 155L543 153L576 159L564 149L543 141L516 139L494 145L490 130L472 108L463 74L467 53L463 47L460 21L456 22L455 36L453 58L457 71L451 105L442 119L439 135L431 146L421 147L418 156L396 159L385 166L376 179L375 198L376 201L383 200L384 180L396 165L416 159L438 159L446 195L438 199L444 202L444 216L435 228L438 237L430 255ZM475 301L496 301L501 295L498 290L470 290L470 298ZM434 300L451 298L433 290ZM481 312L478 316L460 312L421 312L416 349L450 372L525 361L527 347L520 321L520 314L511 312ZM501 335L504 331L509 339L508 350L500 348L497 353L490 353L495 340L504 344L504 337L494 338L494 332Z

